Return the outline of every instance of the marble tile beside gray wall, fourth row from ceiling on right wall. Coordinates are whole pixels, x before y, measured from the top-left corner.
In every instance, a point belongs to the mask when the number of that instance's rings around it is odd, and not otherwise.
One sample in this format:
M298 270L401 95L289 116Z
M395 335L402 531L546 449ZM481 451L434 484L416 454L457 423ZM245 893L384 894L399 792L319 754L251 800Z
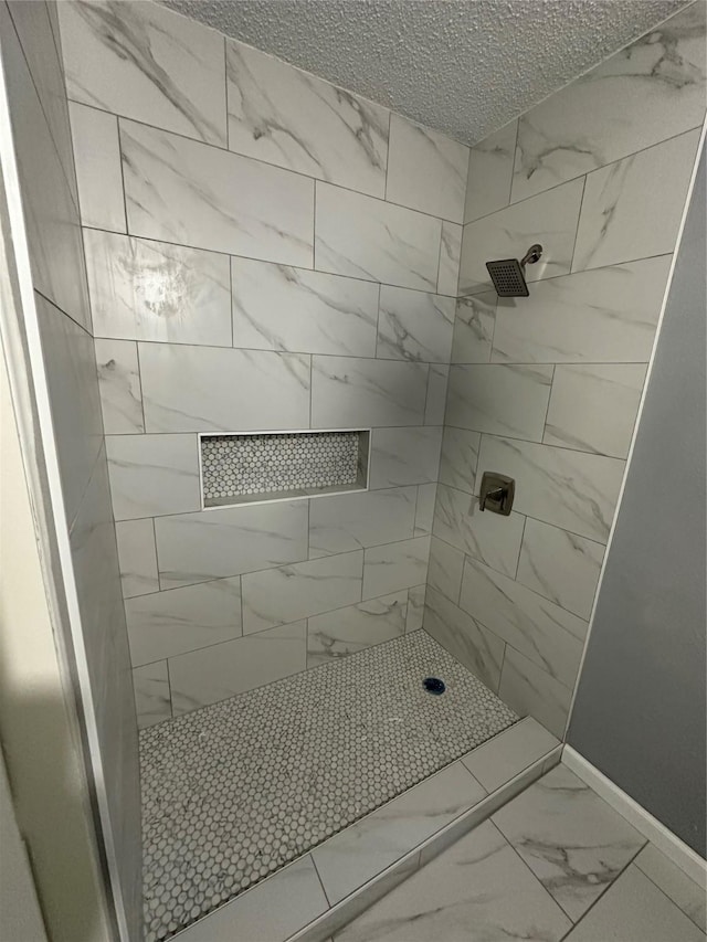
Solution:
M645 373L643 363L557 367L542 441L625 458Z

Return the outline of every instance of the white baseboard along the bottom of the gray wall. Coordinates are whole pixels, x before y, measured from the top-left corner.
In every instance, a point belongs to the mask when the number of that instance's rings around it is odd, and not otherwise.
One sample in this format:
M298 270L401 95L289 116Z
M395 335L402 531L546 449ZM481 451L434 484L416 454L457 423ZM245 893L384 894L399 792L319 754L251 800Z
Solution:
M653 817L644 807L635 802L622 788L608 779L591 762L566 745L562 750L562 763L571 769L576 775L585 782L590 788L611 805L614 811L623 815L629 824L662 850L666 857L684 870L690 879L699 886L705 886L707 880L707 864L699 854L688 847L679 837L676 837L664 824Z

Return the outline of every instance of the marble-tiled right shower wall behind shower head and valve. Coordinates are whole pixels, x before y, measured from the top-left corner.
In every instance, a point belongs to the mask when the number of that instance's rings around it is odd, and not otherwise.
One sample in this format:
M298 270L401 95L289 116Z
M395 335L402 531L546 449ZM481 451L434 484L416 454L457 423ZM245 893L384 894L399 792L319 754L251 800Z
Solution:
M705 118L705 4L472 148L425 628L562 735ZM484 263L532 242L530 297ZM485 470L516 479L481 514Z

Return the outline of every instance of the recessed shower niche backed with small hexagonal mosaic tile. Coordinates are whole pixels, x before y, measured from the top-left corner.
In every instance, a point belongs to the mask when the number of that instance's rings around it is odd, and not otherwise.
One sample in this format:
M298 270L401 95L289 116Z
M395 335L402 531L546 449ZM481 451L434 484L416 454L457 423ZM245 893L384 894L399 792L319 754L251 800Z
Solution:
M199 436L204 508L368 488L370 430Z

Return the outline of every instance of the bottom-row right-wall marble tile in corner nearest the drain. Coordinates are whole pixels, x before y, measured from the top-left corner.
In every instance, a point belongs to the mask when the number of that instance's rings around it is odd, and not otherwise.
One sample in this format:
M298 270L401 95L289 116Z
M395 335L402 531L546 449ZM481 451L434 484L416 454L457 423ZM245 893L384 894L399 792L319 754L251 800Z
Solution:
M490 690L498 689L504 642L431 585L425 597L424 628Z

